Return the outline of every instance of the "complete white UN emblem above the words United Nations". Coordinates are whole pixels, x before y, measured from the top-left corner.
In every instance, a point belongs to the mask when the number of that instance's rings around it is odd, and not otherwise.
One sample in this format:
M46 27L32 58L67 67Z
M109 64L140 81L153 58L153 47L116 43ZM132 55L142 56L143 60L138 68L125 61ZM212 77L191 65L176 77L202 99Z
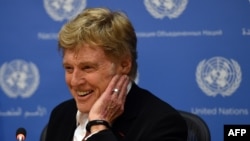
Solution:
M196 81L208 96L232 95L239 87L241 77L239 64L232 59L229 61L223 57L203 60L196 69Z

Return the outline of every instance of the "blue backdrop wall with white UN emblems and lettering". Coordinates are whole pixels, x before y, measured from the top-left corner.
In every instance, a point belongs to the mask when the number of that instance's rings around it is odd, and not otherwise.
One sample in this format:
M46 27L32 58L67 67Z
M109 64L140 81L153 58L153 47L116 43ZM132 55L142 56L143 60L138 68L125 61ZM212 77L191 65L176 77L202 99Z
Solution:
M249 0L0 0L0 140L18 127L38 141L54 106L71 98L57 33L86 7L122 10L138 37L137 83L202 117L212 141L250 124Z

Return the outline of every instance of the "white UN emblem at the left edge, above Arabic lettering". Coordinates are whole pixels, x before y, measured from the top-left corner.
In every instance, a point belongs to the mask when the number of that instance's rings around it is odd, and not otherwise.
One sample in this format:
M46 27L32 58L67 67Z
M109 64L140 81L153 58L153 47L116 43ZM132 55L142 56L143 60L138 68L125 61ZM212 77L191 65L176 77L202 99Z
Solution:
M30 97L37 89L39 79L39 71L31 62L13 60L0 68L0 85L10 98Z

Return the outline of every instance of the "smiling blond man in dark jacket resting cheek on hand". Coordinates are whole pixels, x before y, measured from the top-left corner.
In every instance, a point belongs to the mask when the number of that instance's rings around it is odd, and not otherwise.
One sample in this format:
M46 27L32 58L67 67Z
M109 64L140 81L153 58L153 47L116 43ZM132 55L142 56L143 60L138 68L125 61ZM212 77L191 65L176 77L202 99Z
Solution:
M46 141L185 141L178 112L135 83L136 34L122 12L85 9L59 33L73 99L53 109Z

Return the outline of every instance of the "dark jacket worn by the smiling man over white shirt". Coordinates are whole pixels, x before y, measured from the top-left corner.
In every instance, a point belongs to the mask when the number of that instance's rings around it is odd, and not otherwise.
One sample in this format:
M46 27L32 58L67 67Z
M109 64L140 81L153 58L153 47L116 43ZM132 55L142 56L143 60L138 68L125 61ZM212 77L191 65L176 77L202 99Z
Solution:
M53 109L46 141L72 141L76 129L76 103L65 101ZM87 141L186 141L184 119L169 104L132 85L124 113L112 129L94 134Z

